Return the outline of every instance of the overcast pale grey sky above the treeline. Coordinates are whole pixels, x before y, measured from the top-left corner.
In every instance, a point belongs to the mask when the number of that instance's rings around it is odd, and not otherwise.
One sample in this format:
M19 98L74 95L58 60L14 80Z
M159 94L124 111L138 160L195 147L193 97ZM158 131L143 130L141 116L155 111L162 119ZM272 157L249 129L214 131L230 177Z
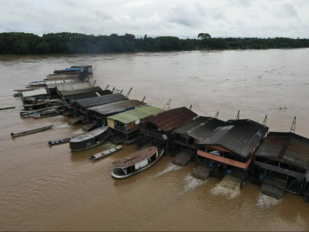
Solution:
M309 0L0 0L0 32L309 38Z

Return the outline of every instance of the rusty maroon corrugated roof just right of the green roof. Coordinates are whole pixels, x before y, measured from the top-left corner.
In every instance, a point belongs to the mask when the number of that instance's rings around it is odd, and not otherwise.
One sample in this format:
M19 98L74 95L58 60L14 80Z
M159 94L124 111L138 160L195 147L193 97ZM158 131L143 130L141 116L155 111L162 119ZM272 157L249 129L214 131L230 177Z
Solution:
M184 125L186 122L193 120L196 116L197 114L188 108L180 107L156 115L150 122L167 132Z

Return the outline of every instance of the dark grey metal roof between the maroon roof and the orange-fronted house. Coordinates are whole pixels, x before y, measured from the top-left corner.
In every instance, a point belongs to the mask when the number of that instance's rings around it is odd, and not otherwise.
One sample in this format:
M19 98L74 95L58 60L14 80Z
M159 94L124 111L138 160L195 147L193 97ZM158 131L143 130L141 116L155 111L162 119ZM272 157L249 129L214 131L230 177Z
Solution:
M214 133L214 129L222 126L225 121L212 117L198 117L187 124L173 130L173 133L187 134L197 140L201 140L206 136Z

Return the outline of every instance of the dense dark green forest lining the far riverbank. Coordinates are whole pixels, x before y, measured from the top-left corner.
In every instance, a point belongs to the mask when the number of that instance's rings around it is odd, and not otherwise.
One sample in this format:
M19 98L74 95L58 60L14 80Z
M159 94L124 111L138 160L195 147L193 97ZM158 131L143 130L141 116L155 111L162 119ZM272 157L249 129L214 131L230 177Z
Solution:
M283 37L211 38L207 33L198 39L174 36L135 38L125 35L84 35L79 33L49 33L42 37L30 33L0 33L0 54L107 53L126 51L172 51L198 49L265 49L309 47L309 39Z

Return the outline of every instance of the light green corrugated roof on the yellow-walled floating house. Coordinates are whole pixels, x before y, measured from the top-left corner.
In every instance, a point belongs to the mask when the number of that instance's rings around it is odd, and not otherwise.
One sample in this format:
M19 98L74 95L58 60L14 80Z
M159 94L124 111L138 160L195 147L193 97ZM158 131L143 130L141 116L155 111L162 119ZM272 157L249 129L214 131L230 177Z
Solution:
M163 112L164 112L163 109L160 109L154 106L144 105L144 106L132 109L132 110L119 113L119 114L114 114L107 118L111 118L113 120L117 120L124 124L128 124L130 122L134 122L135 120L146 118L146 117L156 115L159 113L163 113Z

